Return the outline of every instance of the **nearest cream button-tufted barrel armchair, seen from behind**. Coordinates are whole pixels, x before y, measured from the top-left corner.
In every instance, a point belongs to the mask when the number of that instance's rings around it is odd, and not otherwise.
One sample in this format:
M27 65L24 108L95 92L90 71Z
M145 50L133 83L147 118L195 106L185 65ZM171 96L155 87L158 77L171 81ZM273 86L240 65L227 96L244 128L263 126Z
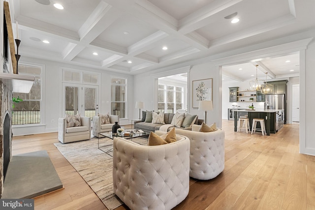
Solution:
M189 139L143 146L114 138L114 193L131 210L170 210L189 192Z

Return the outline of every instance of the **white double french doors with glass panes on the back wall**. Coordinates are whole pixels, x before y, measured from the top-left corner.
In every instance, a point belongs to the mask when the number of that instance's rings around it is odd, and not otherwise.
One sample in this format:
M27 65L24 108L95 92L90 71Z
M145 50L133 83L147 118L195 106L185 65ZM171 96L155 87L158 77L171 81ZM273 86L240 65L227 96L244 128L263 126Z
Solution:
M92 120L98 112L98 86L63 83L63 117L80 114Z

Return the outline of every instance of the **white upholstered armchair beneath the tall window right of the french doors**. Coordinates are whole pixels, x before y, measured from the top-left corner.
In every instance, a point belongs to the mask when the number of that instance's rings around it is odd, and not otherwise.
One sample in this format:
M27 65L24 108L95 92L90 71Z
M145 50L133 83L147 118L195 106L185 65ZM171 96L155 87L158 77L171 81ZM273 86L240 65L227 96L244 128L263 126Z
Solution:
M109 116L109 124L102 124L101 118L98 116L93 117L93 132L92 134L96 136L97 138L101 138L103 136L99 135L101 132L108 132L112 131L112 127L115 124L115 122L118 122L119 124L119 116L118 115L110 115Z

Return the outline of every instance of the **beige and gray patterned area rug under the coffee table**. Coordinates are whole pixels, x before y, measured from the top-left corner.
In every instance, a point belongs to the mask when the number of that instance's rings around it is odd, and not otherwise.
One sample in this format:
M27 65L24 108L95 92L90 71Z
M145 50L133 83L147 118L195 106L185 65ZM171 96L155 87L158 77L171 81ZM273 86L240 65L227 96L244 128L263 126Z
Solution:
M139 137L132 141L146 145L148 138ZM97 139L67 144L59 142L54 145L90 185L107 209L113 210L123 204L113 192L113 140L101 138L99 144L103 151L98 149Z

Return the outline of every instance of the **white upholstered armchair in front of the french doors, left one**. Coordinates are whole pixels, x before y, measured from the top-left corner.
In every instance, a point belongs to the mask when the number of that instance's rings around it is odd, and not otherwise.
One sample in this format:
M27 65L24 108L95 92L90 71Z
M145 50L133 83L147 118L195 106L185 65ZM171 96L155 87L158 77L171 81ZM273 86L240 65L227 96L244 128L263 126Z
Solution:
M91 138L91 119L81 117L81 126L67 127L65 118L58 119L58 140L62 143L89 140Z

